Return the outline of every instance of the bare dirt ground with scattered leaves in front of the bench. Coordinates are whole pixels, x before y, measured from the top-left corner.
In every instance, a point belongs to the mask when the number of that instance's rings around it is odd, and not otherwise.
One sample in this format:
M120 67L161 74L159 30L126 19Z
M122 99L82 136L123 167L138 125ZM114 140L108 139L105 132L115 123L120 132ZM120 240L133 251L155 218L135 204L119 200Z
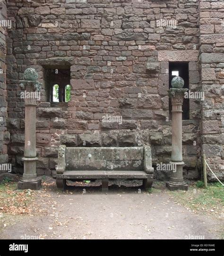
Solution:
M29 192L28 214L1 214L0 239L217 239L223 232L222 218L181 205L164 183L150 193L137 181L118 181L107 194L79 185L61 192L45 178L40 191Z

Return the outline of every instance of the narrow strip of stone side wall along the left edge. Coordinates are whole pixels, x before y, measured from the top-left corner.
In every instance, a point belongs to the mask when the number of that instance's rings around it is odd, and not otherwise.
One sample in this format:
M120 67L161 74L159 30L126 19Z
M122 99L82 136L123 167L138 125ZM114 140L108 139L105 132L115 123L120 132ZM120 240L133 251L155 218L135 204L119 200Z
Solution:
M5 0L0 2L0 24L7 21L7 9ZM6 90L6 27L0 26L0 164L8 163L7 144L9 132L7 132L7 90ZM0 168L0 173L6 171Z

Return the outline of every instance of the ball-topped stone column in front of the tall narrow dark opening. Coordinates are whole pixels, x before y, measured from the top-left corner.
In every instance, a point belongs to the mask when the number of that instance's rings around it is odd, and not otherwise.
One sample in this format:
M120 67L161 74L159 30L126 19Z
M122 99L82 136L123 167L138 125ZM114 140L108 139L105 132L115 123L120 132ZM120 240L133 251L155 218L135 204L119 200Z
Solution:
M184 80L176 76L171 81L172 88L168 91L172 102L172 155L171 164L174 167L170 181L166 183L169 190L188 190L188 185L183 181L183 159L182 159L182 105L184 93L188 91L183 88Z

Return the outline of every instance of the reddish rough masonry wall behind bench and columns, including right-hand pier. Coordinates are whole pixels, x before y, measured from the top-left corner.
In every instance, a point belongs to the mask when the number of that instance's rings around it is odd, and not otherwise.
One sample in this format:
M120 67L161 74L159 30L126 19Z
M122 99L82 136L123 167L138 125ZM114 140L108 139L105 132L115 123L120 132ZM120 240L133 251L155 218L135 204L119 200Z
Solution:
M18 81L27 67L35 68L43 83L36 123L38 174L51 175L60 143L83 146L85 141L86 146L106 147L151 144L154 166L169 162L169 62L189 62L190 90L198 91L202 86L211 92L207 91L203 106L199 100L190 99L190 120L183 120L184 177L199 176L201 146L222 177L224 141L223 137L218 139L224 125L222 4L187 0L9 0L8 16L16 21L7 40L7 124L11 134L9 161L14 171L23 171L24 102ZM160 19L175 19L177 27L157 27L156 20ZM210 23L208 29L205 25ZM205 34L208 31L214 34ZM204 55L207 53L211 55ZM207 59L211 61L207 63ZM70 69L69 103L48 102L46 68ZM106 114L122 115L122 124L103 123ZM155 170L155 177L168 179L169 173Z

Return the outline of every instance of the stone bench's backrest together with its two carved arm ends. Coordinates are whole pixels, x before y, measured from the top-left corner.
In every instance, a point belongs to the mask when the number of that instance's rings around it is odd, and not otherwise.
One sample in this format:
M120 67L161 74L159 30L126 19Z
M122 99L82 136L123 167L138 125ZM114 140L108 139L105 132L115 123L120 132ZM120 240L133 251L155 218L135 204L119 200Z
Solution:
M145 170L153 173L151 148L59 147L57 172L64 170Z

